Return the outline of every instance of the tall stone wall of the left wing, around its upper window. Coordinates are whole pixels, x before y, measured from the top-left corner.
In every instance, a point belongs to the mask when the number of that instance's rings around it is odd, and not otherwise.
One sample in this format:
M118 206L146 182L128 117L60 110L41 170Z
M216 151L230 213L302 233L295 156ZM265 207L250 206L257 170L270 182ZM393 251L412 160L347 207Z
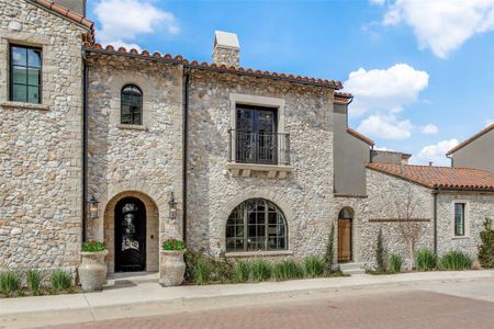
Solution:
M0 0L0 270L74 271L81 243L82 34ZM43 48L42 105L8 102L9 44Z

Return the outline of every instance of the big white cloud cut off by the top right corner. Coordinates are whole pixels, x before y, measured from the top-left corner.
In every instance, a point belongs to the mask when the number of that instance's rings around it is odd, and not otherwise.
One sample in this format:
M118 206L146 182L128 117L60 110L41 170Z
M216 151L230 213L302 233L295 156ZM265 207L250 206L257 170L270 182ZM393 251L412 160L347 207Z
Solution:
M394 0L383 24L402 22L413 29L420 48L446 58L474 34L494 30L494 0Z

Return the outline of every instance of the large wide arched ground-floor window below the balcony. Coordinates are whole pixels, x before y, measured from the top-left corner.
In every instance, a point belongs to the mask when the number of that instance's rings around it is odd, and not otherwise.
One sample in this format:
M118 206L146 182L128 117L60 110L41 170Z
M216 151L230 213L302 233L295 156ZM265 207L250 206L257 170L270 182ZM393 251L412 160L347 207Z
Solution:
M226 223L226 251L285 250L287 219L278 206L263 198L239 204Z

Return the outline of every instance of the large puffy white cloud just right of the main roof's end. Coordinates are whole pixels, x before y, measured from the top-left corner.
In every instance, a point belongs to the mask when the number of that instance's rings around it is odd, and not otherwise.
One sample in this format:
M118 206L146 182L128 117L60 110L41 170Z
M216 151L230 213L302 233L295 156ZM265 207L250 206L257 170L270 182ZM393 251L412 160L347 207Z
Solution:
M427 88L429 75L406 64L396 64L388 69L350 72L345 89L353 94L349 114L358 116L369 110L379 109L398 112L417 100L418 93Z

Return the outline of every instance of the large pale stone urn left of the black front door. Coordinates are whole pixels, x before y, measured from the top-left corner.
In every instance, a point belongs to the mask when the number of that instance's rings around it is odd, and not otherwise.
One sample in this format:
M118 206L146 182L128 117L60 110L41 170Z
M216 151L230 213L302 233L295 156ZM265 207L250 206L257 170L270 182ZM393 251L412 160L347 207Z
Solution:
M85 292L102 291L106 280L106 263L104 258L108 250L103 251L80 251L81 262L79 268L79 279Z

